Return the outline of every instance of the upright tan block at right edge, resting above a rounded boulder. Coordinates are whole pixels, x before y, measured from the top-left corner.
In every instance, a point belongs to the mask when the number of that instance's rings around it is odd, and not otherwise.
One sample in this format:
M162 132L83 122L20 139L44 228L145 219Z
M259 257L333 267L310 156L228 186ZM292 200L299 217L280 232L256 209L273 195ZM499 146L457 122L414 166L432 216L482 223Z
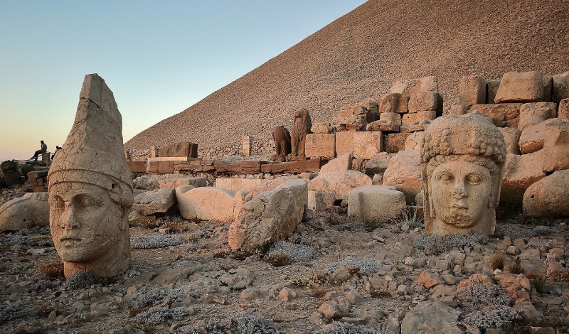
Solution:
M548 119L543 141L543 171L569 169L569 120Z

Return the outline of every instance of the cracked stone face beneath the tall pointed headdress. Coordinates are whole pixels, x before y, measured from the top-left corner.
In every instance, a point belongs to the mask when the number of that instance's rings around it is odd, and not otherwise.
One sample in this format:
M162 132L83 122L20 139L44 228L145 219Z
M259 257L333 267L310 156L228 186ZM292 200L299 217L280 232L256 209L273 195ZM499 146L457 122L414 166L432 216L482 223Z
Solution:
M65 262L92 262L114 252L126 228L124 210L97 185L76 182L50 187L50 228Z

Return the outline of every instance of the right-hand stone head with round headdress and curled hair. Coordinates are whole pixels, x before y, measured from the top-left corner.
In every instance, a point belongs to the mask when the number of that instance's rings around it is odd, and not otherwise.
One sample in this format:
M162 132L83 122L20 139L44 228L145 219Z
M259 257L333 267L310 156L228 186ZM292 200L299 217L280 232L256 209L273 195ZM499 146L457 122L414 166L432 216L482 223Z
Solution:
M487 117L435 119L421 150L427 233L493 235L505 160L504 136Z

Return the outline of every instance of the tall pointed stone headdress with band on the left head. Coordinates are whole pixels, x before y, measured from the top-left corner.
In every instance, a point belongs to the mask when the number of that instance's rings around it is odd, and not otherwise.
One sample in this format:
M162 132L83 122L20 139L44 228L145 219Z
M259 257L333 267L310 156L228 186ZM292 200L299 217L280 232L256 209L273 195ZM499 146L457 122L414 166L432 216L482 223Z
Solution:
M105 80L85 75L73 127L55 154L48 184L78 182L108 190L112 200L132 205L132 174L124 159L122 118Z

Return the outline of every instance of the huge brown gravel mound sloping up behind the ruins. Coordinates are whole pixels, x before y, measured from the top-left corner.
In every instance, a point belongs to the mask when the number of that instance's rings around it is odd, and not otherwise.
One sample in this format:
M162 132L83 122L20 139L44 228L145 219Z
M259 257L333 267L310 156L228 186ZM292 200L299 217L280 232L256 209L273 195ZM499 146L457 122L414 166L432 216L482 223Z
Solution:
M458 103L464 75L563 73L566 8L566 0L366 1L125 148L269 139L275 126L291 126L294 109L306 107L312 122L329 122L346 104L378 101L393 82L415 77L437 76L448 109Z

